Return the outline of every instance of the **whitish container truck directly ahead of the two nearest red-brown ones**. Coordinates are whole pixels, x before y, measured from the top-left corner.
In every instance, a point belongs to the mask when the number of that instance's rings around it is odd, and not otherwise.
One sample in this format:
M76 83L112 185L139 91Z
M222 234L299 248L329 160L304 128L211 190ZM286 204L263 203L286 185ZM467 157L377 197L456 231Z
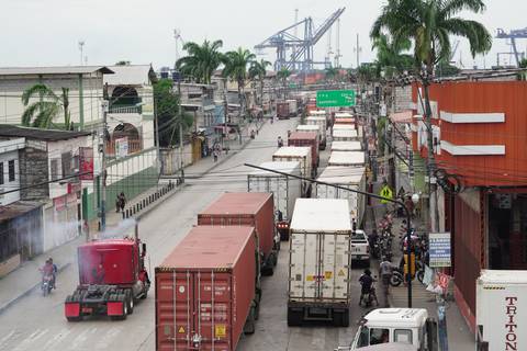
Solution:
M264 162L260 167L301 176L299 161ZM289 224L293 215L294 202L301 196L302 181L298 178L258 169L247 174L247 190L248 192L272 193L277 231L280 240L289 240Z

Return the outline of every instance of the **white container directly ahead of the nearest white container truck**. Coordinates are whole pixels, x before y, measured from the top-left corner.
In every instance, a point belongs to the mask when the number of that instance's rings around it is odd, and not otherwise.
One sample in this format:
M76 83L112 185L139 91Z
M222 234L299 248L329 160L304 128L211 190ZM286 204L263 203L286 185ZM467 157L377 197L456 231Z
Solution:
M317 181L366 192L366 169L362 167L328 166ZM363 220L366 197L356 192L315 183L317 199L345 199L349 204L351 219L359 226Z

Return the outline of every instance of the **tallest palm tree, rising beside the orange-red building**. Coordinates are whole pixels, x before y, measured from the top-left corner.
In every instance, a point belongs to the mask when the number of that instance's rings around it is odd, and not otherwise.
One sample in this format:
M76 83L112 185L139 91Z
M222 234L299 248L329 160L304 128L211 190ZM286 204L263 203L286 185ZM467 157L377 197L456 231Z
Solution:
M373 39L388 34L396 44L406 39L413 42L416 73L424 88L429 176L436 166L429 100L434 70L438 63L450 57L450 35L468 38L473 57L491 49L492 36L481 23L457 16L460 12L481 13L484 10L483 0L388 0L370 32Z

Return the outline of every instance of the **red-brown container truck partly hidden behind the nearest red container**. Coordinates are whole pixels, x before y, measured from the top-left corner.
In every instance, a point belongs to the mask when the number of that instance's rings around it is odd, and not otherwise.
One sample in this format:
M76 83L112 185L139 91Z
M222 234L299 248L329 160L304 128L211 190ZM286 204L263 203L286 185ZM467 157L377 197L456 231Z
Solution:
M274 230L274 202L270 193L225 193L198 214L200 226L256 228L262 274L272 275L280 250Z

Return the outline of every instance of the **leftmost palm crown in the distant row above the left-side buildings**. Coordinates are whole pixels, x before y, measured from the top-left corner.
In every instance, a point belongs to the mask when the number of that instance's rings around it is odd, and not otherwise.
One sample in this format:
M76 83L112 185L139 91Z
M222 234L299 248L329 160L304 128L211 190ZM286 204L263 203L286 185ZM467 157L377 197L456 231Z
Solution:
M192 77L199 83L210 84L212 75L224 60L223 54L218 52L222 45L222 41L204 41L202 45L186 43L183 50L189 55L178 59L176 67L183 76Z

